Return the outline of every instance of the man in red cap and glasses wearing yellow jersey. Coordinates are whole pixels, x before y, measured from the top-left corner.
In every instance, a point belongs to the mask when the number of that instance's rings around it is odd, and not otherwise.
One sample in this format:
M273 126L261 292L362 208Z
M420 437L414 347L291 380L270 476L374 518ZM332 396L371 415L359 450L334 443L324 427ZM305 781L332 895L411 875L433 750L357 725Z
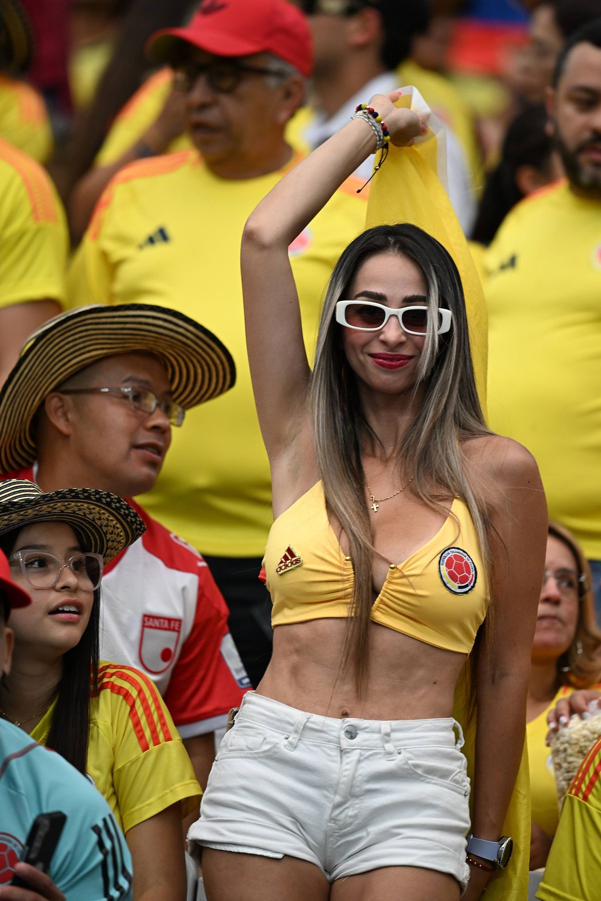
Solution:
M257 686L271 645L257 578L271 493L246 356L240 243L254 207L296 162L285 129L305 96L311 34L286 0L203 0L187 28L151 39L150 56L176 70L194 149L139 160L114 178L73 262L69 303L170 306L223 335L232 352L236 386L191 411L142 503L205 556ZM323 287L364 227L358 187L338 191L290 247L310 356Z

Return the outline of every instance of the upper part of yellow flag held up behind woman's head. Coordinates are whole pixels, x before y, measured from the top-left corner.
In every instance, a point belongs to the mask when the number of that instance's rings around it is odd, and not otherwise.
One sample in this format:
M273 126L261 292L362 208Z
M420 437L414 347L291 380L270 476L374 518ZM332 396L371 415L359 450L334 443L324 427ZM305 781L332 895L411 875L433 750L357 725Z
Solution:
M429 112L416 88L399 90L403 94L396 106L411 108L418 114ZM440 241L455 260L465 294L478 396L482 409L486 410L487 306L468 241L443 184L446 184L444 126L431 114L428 133L418 139L414 147L389 145L387 160L369 185L366 226L413 223Z

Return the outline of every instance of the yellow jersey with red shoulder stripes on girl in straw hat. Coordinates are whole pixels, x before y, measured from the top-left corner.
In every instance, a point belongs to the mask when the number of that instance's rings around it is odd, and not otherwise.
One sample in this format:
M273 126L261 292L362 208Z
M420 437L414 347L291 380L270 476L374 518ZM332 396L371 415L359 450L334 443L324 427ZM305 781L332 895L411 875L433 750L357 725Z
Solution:
M56 701L31 735L45 744ZM124 833L181 802L182 819L202 789L154 683L139 669L101 661L90 701L87 778Z

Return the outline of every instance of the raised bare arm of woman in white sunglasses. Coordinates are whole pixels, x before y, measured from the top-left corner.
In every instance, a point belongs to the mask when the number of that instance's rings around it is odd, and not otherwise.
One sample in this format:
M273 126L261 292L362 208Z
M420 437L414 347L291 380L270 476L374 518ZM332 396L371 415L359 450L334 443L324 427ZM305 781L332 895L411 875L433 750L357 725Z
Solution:
M387 123L398 146L425 126L396 95L369 105ZM287 249L360 163L374 152L369 123L354 119L314 150L272 188L250 215L242 235L241 274L250 374L263 439L272 460L306 423L309 365L298 296ZM318 298L315 297L315 303Z

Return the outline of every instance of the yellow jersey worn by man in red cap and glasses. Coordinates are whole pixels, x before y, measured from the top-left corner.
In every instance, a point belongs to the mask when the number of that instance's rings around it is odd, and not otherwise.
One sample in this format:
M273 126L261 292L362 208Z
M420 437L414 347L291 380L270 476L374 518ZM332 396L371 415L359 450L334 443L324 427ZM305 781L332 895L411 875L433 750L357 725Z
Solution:
M260 557L272 521L246 353L240 245L250 213L287 168L223 179L196 150L133 163L100 198L68 275L71 306L169 306L211 329L231 351L236 385L188 411L183 428L173 430L157 486L139 498L159 523L217 557ZM351 179L339 189L289 248L310 359L323 290L365 224L358 185Z

